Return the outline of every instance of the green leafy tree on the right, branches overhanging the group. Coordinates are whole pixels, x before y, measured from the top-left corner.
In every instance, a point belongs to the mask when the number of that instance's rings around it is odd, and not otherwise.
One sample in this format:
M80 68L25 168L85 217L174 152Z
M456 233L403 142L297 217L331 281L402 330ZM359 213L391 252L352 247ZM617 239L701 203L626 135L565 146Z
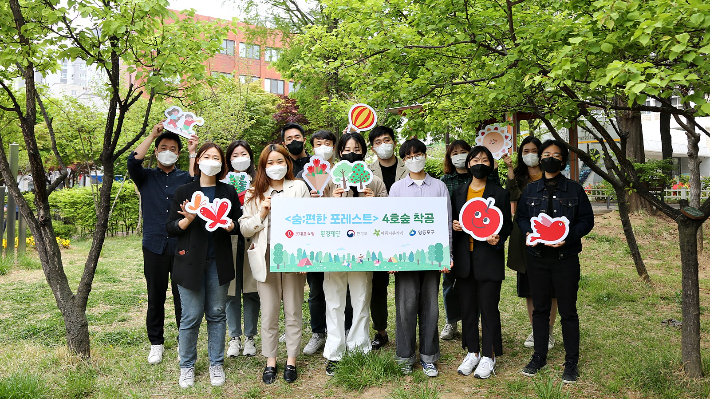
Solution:
M628 194L678 224L682 363L687 375L702 375L696 232L710 216L710 201L700 203L698 143L710 133L696 118L710 114L710 6L696 0L323 4L338 25L299 36L297 43L317 46L292 70L337 72L358 98L378 108L422 104L408 123L425 124L435 138L452 125L466 138L482 122L515 112L534 115L563 141L567 129L590 134L600 157L568 144L572 159L582 160L617 193L624 234L644 281L650 277L628 218ZM326 55L322 49L335 47L338 63L316 64ZM672 96L681 107L671 104ZM682 212L649 191L638 154L627 151L638 147L640 132L623 126L623 114L636 118L633 125L641 111L670 115L686 133L692 207ZM431 247L428 257L433 262Z

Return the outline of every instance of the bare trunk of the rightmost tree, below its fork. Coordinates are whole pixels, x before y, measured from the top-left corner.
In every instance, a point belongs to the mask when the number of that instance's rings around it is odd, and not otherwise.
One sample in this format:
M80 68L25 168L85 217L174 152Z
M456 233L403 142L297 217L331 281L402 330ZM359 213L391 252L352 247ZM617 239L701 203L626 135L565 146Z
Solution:
M700 357L700 285L698 282L699 222L683 218L678 222L680 262L683 276L681 353L685 374L691 378L703 376Z

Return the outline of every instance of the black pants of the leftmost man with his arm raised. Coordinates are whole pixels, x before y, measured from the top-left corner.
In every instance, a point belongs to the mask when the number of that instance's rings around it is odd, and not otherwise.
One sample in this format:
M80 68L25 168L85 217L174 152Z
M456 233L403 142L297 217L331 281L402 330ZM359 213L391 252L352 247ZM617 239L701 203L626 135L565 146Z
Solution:
M173 272L174 255L168 254L166 246L162 254L156 254L143 247L143 274L145 275L146 288L148 289L148 313L145 326L151 345L162 345L165 341L165 297L168 290L168 281L171 282L173 291L173 304L175 305L175 322L180 330L180 292L177 284L170 278Z

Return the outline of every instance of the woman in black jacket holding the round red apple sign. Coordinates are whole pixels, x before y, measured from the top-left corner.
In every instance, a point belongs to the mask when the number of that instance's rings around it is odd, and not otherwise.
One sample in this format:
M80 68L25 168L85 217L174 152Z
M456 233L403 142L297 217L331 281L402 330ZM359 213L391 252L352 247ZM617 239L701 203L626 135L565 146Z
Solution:
M459 219L461 208L473 198L493 198L494 205L500 209L503 224L497 234L487 235L485 241L474 241L466 234L463 226L469 221L453 221L453 257L451 269L456 277L456 290L459 292L462 316L462 346L468 350L466 358L458 368L459 374L469 375L474 367L475 377L488 378L495 368L495 356L503 352L501 334L500 289L505 278L505 240L510 235L513 223L510 218L510 194L507 190L488 180L493 172L493 155L483 146L471 149L466 158L466 165L472 175L471 182L454 191L451 198L453 217ZM497 222L497 212L483 215L476 212L474 218L481 225ZM488 221L484 219L488 218ZM479 220L471 220L477 224ZM491 224L492 225L492 224ZM481 314L481 352L479 354L478 314Z

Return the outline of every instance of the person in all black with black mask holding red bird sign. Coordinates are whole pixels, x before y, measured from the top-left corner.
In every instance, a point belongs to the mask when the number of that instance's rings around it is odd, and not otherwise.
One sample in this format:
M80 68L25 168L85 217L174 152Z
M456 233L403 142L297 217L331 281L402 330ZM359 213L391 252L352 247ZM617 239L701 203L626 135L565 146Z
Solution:
M541 213L551 218L564 216L569 221L569 232L557 244L527 244L527 273L534 306L535 353L523 369L523 374L535 375L547 364L550 305L554 291L562 319L562 340L565 346L562 382L572 383L577 381L579 375L579 253L582 251L582 237L594 227L594 212L582 186L561 173L569 157L565 143L547 140L542 143L539 152L540 167L545 175L525 187L518 203L516 221L527 236L533 233L531 218Z

